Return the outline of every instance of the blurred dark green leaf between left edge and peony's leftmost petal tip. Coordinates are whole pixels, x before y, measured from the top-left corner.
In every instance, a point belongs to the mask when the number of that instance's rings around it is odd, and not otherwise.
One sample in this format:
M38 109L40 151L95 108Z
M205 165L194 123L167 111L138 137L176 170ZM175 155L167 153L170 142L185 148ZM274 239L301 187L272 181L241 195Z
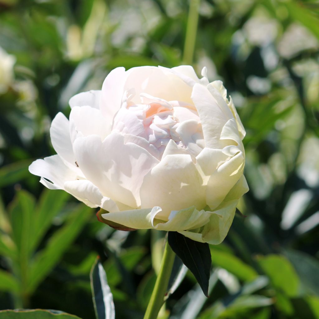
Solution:
M30 176L28 167L31 160L22 160L0 168L0 187L14 184Z

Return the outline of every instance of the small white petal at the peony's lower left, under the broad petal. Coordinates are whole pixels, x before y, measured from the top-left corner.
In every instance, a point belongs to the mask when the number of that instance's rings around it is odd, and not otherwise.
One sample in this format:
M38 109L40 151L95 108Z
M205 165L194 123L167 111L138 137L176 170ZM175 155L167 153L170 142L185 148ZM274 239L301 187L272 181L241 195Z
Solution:
M90 181L75 180L65 182L64 189L87 206L101 207L107 211L119 210L115 202L103 196L100 190Z

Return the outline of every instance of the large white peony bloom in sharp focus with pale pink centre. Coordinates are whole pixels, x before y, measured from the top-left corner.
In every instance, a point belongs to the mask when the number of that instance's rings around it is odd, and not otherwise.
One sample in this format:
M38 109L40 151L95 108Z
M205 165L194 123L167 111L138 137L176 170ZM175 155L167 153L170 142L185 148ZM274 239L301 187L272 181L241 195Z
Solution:
M245 130L222 82L202 76L191 66L116 68L101 91L70 99L69 120L56 115L57 155L30 172L101 207L107 223L220 243L248 191Z

